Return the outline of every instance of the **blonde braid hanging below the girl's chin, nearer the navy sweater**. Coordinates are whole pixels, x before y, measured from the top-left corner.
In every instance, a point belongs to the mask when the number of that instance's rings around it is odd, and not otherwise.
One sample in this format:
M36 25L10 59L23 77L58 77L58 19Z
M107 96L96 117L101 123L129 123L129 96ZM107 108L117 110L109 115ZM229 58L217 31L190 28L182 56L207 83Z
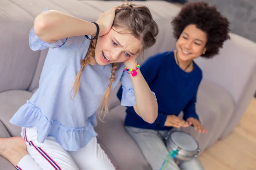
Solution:
M106 113L108 113L108 102L109 102L109 97L110 97L110 93L111 93L111 85L112 85L112 82L115 80L115 72L116 72L117 68L118 68L117 63L112 63L110 82L109 82L108 88L106 89L106 91L104 93L102 103L99 107L99 113L102 113L102 111L104 110L103 119L104 119ZM99 119L101 120L100 115L99 115Z

